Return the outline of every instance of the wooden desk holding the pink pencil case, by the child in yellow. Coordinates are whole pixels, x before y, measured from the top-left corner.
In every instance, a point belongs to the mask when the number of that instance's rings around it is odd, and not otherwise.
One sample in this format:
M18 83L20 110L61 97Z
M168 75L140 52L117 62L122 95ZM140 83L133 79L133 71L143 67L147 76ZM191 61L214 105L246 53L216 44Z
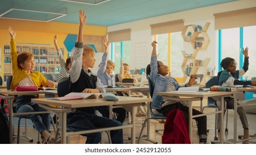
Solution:
M56 91L57 92L57 91ZM52 92L47 92L44 90L40 90L40 91L12 91L12 90L7 90L7 89L0 89L0 97L7 99L8 100L8 104L9 104L9 139L10 142L13 141L13 116L16 115L27 115L26 112L23 113L13 113L13 102L12 99L14 99L16 96L19 95L38 95L38 94L47 94L47 93L53 93ZM45 112L29 112L31 113L49 113L47 111Z

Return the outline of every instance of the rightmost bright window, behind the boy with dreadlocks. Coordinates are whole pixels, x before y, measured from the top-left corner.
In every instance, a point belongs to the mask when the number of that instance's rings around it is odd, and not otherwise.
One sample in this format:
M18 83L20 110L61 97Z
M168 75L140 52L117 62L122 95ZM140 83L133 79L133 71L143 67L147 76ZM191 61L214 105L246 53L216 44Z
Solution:
M237 61L237 69L243 67L243 48L248 47L249 70L241 78L242 80L251 80L256 77L256 44L254 36L256 35L256 26L223 29L221 32L221 55L219 55L219 63L226 57L231 57ZM219 65L219 64L218 64ZM220 69L220 66L219 66Z

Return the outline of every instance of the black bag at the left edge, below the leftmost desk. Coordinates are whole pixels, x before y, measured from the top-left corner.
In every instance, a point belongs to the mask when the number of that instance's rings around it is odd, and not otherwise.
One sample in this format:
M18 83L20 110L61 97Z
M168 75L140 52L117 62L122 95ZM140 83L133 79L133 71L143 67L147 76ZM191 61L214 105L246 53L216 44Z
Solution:
M6 115L6 111L4 110L4 100L1 99L0 106L0 143L1 144L9 144L9 121Z

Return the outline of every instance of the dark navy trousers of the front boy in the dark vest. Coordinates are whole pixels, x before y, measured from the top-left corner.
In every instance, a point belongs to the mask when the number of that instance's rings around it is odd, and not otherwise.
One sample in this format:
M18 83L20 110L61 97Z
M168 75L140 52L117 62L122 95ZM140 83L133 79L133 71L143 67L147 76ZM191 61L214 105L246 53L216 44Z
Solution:
M66 116L66 127L71 131L84 131L93 130L97 128L105 127L115 127L122 126L119 121L110 120L106 117L97 116L94 113L88 113L84 111L75 111L73 113L68 113ZM122 137L122 130L112 130L110 131L111 141L113 144L124 143ZM98 144L101 140L101 133L88 133L84 134L86 136L86 144Z

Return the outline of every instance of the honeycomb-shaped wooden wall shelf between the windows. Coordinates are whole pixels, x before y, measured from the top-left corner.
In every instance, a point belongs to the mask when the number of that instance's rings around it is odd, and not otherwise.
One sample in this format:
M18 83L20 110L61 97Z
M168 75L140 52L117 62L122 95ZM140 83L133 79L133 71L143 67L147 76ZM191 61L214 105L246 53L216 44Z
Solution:
M186 54L186 51L182 50L182 54L184 57L183 63L181 65L182 70L184 70L184 76L182 79L182 82L188 81L188 74L198 74L202 75L200 78L201 84L205 84L206 75L207 75L207 66L209 63L210 58L206 58L202 64L202 60L197 60L196 56L198 54L198 51L201 49L207 49L207 46L209 44L209 37L207 34L207 29L209 27L210 23L206 23L204 25L204 28L202 31L194 32L194 29L196 28L196 25L185 25L182 30L182 37L185 42L190 42L191 46L193 48L192 54ZM187 38L186 34L188 32L192 32L191 38ZM201 73L199 72L201 71Z

